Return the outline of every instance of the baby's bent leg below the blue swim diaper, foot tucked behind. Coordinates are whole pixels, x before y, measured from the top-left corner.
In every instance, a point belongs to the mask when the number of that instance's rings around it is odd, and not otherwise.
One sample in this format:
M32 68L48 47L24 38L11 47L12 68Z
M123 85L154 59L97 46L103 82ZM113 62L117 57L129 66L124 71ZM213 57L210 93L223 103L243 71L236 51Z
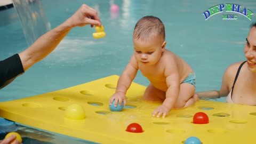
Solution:
M195 86L189 83L180 84L180 93L174 108L186 108L192 106L198 100L198 96L195 94L195 89Z

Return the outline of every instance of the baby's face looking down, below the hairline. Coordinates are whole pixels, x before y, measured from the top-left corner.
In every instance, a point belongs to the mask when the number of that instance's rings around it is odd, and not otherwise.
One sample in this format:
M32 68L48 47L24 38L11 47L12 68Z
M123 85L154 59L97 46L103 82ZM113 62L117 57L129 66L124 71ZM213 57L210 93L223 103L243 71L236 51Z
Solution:
M143 65L154 65L161 58L165 43L162 38L151 38L148 42L133 39L136 60Z

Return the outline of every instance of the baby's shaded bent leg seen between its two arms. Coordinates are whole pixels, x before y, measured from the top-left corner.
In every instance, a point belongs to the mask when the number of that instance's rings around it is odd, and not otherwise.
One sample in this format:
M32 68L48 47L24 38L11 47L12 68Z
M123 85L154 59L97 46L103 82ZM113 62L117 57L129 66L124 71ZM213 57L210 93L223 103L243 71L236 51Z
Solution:
M144 100L151 102L163 102L165 99L165 92L156 89L155 86L149 84L143 95Z

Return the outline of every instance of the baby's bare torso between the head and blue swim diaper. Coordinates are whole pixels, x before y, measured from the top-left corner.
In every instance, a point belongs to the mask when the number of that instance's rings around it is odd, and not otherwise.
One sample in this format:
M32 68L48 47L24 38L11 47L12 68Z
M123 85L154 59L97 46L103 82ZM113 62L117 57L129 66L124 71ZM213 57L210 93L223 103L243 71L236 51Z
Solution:
M168 88L166 85L166 68L173 71L172 74L178 73L180 84L190 73L194 73L193 69L185 60L168 50L163 52L162 57L155 65L147 66L139 63L138 66L142 75L147 77L150 83L161 91L166 91Z

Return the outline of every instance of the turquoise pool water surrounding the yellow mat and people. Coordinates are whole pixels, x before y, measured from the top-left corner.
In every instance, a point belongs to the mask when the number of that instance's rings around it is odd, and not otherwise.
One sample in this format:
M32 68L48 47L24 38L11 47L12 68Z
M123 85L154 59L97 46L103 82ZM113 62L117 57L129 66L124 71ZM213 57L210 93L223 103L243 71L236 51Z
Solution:
M110 75L121 75L133 53L135 23L145 15L160 18L166 30L166 49L179 55L194 69L196 91L219 90L226 68L245 60L243 48L250 24L256 21L241 14L237 20L222 20L215 14L205 20L203 13L225 1L41 1L51 28L69 18L83 3L98 10L107 36L94 39L94 28L77 27L44 60L0 91L0 101L9 101L86 83ZM117 14L111 4L119 5ZM254 0L233 1L256 12ZM233 13L234 14L234 13ZM28 47L22 23L14 8L0 11L0 60ZM148 85L140 71L134 82ZM225 97L209 99L226 102Z

